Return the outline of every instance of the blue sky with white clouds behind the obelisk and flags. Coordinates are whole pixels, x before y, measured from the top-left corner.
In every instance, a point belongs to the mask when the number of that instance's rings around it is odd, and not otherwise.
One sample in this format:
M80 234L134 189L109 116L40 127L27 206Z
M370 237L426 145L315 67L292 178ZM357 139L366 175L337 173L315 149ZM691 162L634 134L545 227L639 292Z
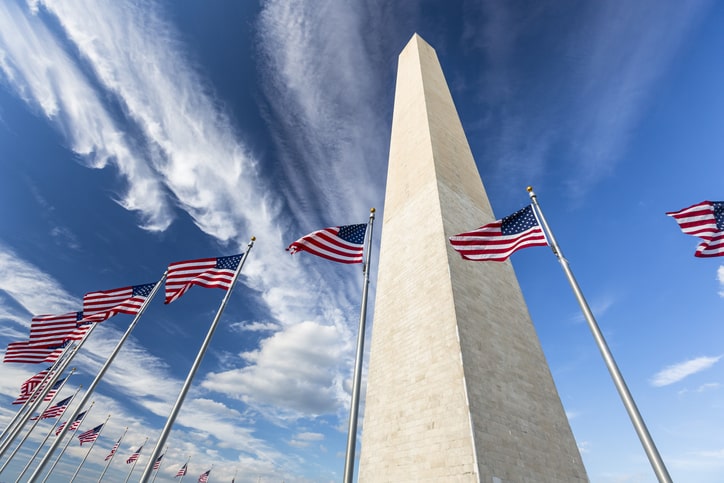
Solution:
M707 0L0 2L0 351L33 315L256 237L156 481L187 461L187 481L340 481L362 273L285 248L372 207L379 244L397 56L418 33L496 217L534 187L672 479L720 482L724 259L695 258L665 213L724 199L723 21ZM655 482L555 256L511 263L591 482ZM107 479L140 477L223 296L149 303L92 396L81 429L111 417L76 481L126 427ZM94 330L59 397L131 321ZM42 368L0 365L3 426Z

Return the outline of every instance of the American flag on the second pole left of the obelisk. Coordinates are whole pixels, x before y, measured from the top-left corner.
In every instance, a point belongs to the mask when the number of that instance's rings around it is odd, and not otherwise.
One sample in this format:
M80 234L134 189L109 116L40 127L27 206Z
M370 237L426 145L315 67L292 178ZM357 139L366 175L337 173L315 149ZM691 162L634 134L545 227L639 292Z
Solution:
M165 303L170 304L178 299L192 285L228 290L239 262L241 255L201 258L170 264L166 274Z

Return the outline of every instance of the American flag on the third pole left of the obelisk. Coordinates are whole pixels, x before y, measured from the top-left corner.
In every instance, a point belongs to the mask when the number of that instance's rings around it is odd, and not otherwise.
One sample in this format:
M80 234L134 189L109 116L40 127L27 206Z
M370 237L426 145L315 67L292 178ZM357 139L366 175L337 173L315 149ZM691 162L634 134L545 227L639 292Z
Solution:
M135 315L155 283L89 292L83 296L83 319L102 322L117 314Z

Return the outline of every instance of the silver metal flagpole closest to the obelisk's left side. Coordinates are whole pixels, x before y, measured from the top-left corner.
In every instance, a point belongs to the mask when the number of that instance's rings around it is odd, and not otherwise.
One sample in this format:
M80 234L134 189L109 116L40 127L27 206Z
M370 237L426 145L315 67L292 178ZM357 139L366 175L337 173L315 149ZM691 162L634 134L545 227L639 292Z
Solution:
M365 262L362 266L362 307L357 332L357 355L354 362L354 379L352 383L352 401L349 406L349 428L347 429L347 452L344 458L344 481L352 483L354 476L354 454L357 447L357 414L359 413L359 395L362 384L362 359L364 357L365 323L367 320L367 292L370 285L370 252L372 251L372 224L375 220L375 209L370 209L365 239Z

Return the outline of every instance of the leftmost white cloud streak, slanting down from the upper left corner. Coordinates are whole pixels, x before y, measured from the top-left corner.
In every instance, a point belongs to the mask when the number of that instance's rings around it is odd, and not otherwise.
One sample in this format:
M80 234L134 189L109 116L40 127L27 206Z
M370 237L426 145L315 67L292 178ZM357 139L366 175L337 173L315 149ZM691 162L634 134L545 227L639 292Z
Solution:
M80 13L87 16L93 8ZM168 203L143 155L127 143L80 67L35 15L14 2L0 4L0 68L19 95L58 125L90 167L114 164L128 181L118 202L138 210L143 227L163 230Z

